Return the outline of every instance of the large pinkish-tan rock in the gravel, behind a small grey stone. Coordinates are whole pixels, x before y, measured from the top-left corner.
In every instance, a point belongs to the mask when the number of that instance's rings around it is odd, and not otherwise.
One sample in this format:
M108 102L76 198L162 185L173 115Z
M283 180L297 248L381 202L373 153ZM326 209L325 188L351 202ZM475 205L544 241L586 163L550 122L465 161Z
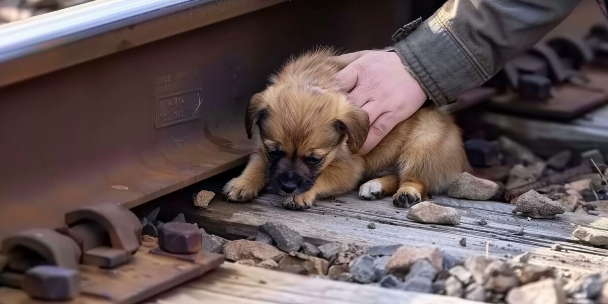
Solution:
M388 274L405 275L409 272L413 263L418 260L429 260L437 271L443 269L443 255L436 247L413 247L401 246L395 254L390 257L386 265Z

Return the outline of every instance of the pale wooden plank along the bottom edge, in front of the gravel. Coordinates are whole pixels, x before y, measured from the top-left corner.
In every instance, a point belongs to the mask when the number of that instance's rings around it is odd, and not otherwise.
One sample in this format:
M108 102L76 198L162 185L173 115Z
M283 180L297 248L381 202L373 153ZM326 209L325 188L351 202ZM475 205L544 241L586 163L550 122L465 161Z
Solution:
M159 295L148 303L477 303L373 285L303 277L268 269L224 264L216 271Z

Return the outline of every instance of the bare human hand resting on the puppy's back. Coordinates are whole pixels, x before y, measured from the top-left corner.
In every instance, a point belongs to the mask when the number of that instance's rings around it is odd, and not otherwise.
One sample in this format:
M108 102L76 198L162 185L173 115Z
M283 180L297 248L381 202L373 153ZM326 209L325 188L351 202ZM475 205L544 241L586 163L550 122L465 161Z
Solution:
M395 52L363 50L340 55L350 62L337 73L348 100L370 116L370 132L359 154L376 147L390 130L406 120L427 100L427 95Z

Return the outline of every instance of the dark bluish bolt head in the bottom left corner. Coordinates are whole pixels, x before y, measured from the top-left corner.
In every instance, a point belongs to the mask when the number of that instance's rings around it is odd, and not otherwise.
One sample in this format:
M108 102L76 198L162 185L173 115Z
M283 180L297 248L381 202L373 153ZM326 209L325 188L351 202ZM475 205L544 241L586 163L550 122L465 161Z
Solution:
M22 287L33 299L67 301L80 292L80 275L60 266L36 266L26 272Z

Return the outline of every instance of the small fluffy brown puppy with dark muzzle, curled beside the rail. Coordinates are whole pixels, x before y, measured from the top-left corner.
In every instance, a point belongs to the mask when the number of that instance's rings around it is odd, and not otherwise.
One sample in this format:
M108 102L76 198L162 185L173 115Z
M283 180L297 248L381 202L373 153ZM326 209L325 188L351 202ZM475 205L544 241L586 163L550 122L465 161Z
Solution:
M268 184L285 196L283 207L301 210L375 178L361 185L361 198L393 195L395 205L409 207L468 170L460 130L434 106L399 123L366 156L356 154L367 137L368 115L338 88L335 75L348 62L335 55L321 49L289 61L251 98L247 136L258 148L224 187L230 200L249 201ZM387 169L396 174L376 178Z

